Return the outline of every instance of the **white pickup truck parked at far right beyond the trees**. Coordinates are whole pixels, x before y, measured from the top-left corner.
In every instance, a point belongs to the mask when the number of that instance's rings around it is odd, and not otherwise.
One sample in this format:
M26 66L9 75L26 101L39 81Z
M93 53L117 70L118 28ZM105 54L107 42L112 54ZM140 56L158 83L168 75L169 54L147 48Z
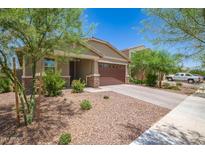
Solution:
M176 73L166 76L166 79L169 81L187 81L188 83L203 82L202 76L191 73Z

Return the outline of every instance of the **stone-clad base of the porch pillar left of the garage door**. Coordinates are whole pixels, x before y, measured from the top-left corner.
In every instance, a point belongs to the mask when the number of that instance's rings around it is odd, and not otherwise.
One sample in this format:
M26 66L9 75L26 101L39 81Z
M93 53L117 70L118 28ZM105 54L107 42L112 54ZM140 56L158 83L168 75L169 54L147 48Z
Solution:
M99 74L91 74L87 77L87 86L97 88L100 85L100 75Z

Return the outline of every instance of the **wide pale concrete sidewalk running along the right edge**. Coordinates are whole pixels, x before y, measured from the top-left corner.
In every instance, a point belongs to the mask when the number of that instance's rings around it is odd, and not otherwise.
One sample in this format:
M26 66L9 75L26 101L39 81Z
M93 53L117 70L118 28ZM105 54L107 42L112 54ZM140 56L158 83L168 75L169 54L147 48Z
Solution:
M131 145L205 144L205 91L198 92L200 95L187 97Z

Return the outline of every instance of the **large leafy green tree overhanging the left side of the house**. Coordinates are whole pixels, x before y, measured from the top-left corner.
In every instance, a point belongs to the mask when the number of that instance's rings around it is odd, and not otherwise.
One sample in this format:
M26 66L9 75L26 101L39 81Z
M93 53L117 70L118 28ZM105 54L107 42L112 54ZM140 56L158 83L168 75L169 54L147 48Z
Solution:
M83 36L81 14L82 9L0 9L0 31L11 36L7 45L32 60L32 102L37 62L55 49L76 51ZM32 109L33 114L35 101Z

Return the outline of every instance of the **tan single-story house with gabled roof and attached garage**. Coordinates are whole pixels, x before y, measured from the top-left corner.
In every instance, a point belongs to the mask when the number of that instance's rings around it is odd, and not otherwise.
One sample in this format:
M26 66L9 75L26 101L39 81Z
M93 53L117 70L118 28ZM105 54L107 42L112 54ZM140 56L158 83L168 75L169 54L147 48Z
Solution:
M63 61L58 58L64 57ZM22 82L26 89L31 87L31 60L19 57L22 67ZM69 87L74 79L82 79L87 86L98 87L112 84L128 83L129 58L110 43L89 38L82 53L66 53L56 50L54 54L42 57L37 63L36 75L41 70L59 70Z

